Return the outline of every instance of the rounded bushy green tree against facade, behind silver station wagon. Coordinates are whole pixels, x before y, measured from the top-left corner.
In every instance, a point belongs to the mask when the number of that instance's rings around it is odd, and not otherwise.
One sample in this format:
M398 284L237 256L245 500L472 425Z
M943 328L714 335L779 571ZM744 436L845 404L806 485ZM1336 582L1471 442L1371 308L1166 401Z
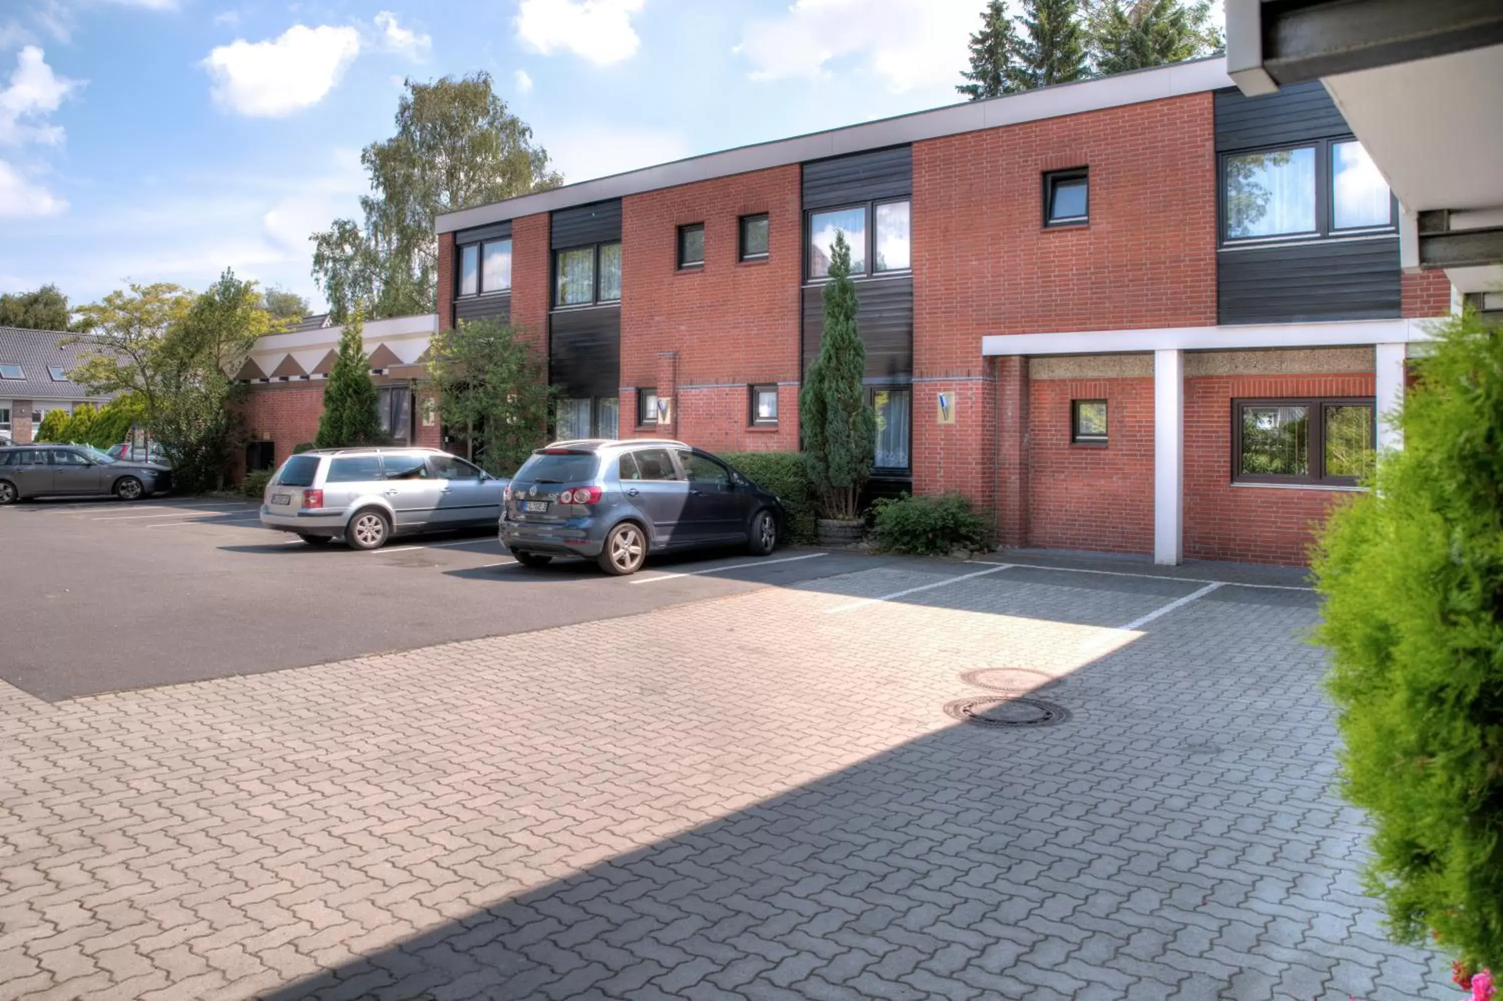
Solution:
M439 331L425 389L446 427L466 428L470 458L488 472L516 472L544 443L553 391L543 353L519 328L475 320Z

